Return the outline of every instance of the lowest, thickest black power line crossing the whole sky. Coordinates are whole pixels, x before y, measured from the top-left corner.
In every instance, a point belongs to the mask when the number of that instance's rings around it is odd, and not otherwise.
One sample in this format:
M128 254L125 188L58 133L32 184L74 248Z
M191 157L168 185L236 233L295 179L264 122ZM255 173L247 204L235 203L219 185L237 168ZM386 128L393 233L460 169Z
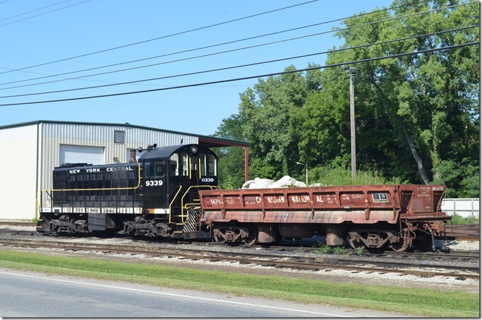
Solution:
M463 46L473 46L479 44L479 42L469 42L469 43L464 43L464 44L456 44L453 46L443 46L440 48L435 48L435 49L427 49L427 50L422 50L422 51L414 51L414 52L409 52L409 53L399 53L397 55L390 55L388 57L375 57L375 58L370 58L370 59L362 59L362 60L355 60L351 62L342 62L338 64L330 64L328 66L317 66L313 68L304 68L304 69L299 69L299 70L290 70L290 71L283 71L283 72L275 72L275 73L268 73L265 75L256 75L256 76L249 76L249 77L241 77L241 78L235 78L235 79L225 79L225 80L218 80L218 81L210 81L210 82L204 82L204 83L191 83L188 85L177 85L175 87L169 87L169 88L158 88L158 89L151 89L151 90L141 90L141 91L134 91L134 92L120 92L116 94L102 94L99 96L81 96L77 98L64 98L64 99L58 99L58 100L49 100L49 101L32 101L32 102L27 102L27 103L8 103L8 104L3 104L0 105L0 107L8 107L8 106L14 106L14 105L34 105L34 104L40 104L40 103L56 103L56 102L65 102L65 101L76 101L76 100L85 100L85 99L91 99L91 98L106 98L110 96L125 96L129 94L140 94L140 93L148 93L148 92L157 92L157 91L165 91L165 90L174 90L174 89L183 89L183 88L192 88L192 87L199 87L201 85L212 85L216 83L227 83L227 82L233 82L233 81L242 81L242 80L247 80L247 79L258 79L258 78L264 78L264 77L272 77L275 75L286 75L289 73L294 73L294 72L305 72L309 70L318 70L318 69L323 69L323 68L331 68L335 66L342 66L346 64L360 64L363 62L372 62L372 61L378 61L378 60L383 60L383 59L394 59L396 57L404 57L407 55L418 55L421 53L429 53L433 51L441 51L441 50L447 50L447 49L457 49L461 48Z

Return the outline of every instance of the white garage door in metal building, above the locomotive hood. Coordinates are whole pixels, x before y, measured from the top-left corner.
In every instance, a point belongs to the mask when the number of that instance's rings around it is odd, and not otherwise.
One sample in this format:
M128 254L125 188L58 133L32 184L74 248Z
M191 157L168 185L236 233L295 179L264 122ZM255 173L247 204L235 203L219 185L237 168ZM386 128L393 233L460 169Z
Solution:
M104 148L61 144L60 164L62 163L104 164Z

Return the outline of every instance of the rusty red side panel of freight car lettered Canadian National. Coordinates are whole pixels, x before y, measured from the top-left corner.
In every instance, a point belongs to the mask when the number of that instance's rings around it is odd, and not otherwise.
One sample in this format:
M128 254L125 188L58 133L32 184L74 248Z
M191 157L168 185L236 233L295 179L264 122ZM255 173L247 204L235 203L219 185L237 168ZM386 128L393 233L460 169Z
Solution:
M410 192L413 194L413 192ZM398 185L201 191L202 221L395 224Z

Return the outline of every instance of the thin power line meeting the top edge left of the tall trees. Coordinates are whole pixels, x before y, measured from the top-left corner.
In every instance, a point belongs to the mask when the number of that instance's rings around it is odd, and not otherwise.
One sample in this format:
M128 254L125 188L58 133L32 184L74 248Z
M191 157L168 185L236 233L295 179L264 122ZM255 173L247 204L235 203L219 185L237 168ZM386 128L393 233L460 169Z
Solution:
M87 1L90 1L90 0L87 0ZM269 13L272 13L272 12L277 12L277 11L281 11L281 10L286 10L286 9L290 9L290 8L294 8L294 7L297 7L299 5L305 5L307 3L312 3L312 2L316 2L318 0L311 0L311 1L307 1L307 2L303 2L303 3L298 3L296 5L290 5L288 7L283 7L283 8L279 8L279 9L275 9L275 10L270 10L270 11L266 11L266 12L262 12L262 13L259 13L259 14L252 14L251 16L244 16L242 18L236 18L236 19L233 19L233 20L229 20L229 21L224 21L222 23L215 23L213 25L207 25L207 26L204 26L204 27L199 27L199 28L195 28L195 29L190 29L190 30L187 30L187 31L181 31L181 32L177 32L175 34L169 34L167 36L161 36L161 37L158 37L158 38L153 38L153 39L149 39L149 40L144 40L144 41L139 41L139 42L134 42L134 43L131 43L131 44L125 44L123 46L116 46L114 48L110 48L110 49L105 49L105 50L101 50L101 51L95 51L95 52L92 52L92 53L86 53L84 55L76 55L74 57L68 57L68 58L65 58L65 59L59 59L59 60L55 60L53 62L45 62L43 64L36 64L34 66L28 66L28 67L24 67L24 68L18 68L18 69L14 69L14 70L9 70L9 71L4 71L4 72L0 72L0 75L2 75L3 73L8 73L8 72L13 72L13 71L19 71L19 70L25 70L25 69L29 69L29 68L34 68L34 67L38 67L38 66L45 66L47 64L54 64L54 63L57 63L57 62L63 62L63 61L66 61L66 60L71 60L71 59L77 59L79 57L86 57L88 55L94 55L94 54L97 54L97 53L103 53L103 52L107 52L107 51L112 51L112 50L116 50L116 49L121 49L121 48L126 48L127 46L134 46L134 45L137 45L137 44L142 44L142 43L146 43L146 42L151 42L151 41L155 41L155 40L160 40L160 39L165 39L165 38L170 38L170 37L173 37L173 36L179 36L181 34L188 34L190 32L194 32L194 31L199 31L199 30L202 30L202 29L207 29L207 28L211 28L211 27L217 27L219 25L225 25L227 23L232 23L232 22L235 22L235 21L241 21L241 20L244 20L244 19L247 19L247 18L253 18L255 16L262 16L264 14L269 14ZM1 27L1 25L0 25Z

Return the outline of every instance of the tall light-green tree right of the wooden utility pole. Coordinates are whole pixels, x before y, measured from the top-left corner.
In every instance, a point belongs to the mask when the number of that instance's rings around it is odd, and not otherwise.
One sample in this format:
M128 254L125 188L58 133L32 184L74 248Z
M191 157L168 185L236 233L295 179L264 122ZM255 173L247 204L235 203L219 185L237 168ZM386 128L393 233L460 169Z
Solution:
M331 53L327 64L477 41L478 29L470 28L387 42L478 25L478 4L445 8L457 3L399 0L393 3L393 6L400 6L394 10L393 16L398 17L396 19L388 20L392 16L387 11L346 19L343 24L347 29L340 29L337 35L345 40L343 48L351 49ZM437 11L427 12L429 10ZM375 23L381 20L385 22ZM357 27L358 25L364 26ZM384 43L375 44L377 42ZM373 45L357 48L362 44ZM385 139L377 139L375 143L378 146L366 147L374 155L384 152L387 159L390 159L385 164L390 164L392 170L409 172L416 169L419 176L410 180L430 183L440 180L442 174L446 174L444 161L461 163L466 157L478 159L478 45L364 62L357 64L357 68L357 142L361 140L360 137L369 137L375 125L382 124L384 127L380 133L385 135ZM331 72L333 71L327 70L327 73ZM338 73L341 74L342 71L338 70ZM325 89L327 85L331 86L326 81L323 83ZM370 116L366 106L373 109L371 118L366 118ZM375 123L370 125L371 120L375 120ZM393 146L389 139L400 145ZM364 146L360 148L363 149ZM373 159L378 161L375 157ZM402 163L412 163L413 169L406 168ZM362 165L368 163L362 161Z

